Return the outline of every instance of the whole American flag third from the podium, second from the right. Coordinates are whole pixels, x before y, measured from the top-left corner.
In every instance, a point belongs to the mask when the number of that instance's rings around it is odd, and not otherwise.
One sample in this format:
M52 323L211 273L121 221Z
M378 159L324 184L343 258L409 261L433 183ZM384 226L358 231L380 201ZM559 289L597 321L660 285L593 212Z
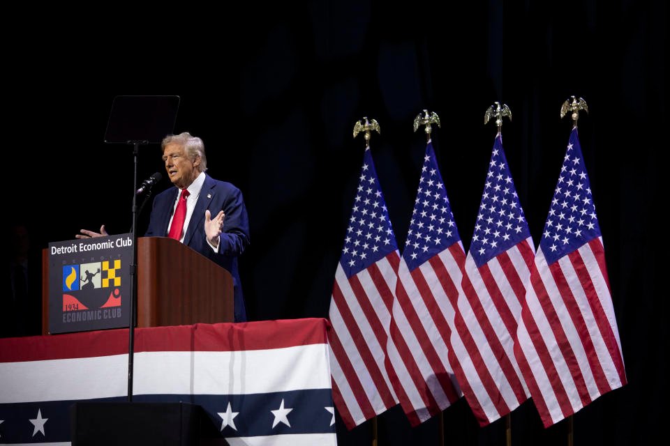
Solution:
M528 399L514 357L514 337L533 256L533 240L498 133L466 257L452 336L453 354L461 364L457 376L482 426Z

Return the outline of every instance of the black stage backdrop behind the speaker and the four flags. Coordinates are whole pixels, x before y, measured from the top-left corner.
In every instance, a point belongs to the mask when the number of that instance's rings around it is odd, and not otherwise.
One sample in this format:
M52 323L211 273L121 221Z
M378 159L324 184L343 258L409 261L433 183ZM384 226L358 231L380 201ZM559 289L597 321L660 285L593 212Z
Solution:
M664 208L666 8L553 3L309 1L169 17L59 6L18 15L19 31L3 31L9 220L27 222L36 252L103 223L129 231L134 157L131 146L103 142L112 100L179 95L175 132L202 137L208 173L244 193L251 320L325 317L362 162L356 121L380 123L371 146L402 245L425 148L412 122L422 109L439 114L433 141L467 249L496 133L484 112L496 100L509 105L503 141L537 245L571 129L560 105L581 96L589 114L580 139L629 384L574 416L574 440L652 444L667 431L665 237L663 220L653 220ZM68 19L75 13L83 17ZM142 146L138 180L163 171L160 158L158 144ZM447 444L504 444L504 422L479 429L464 401L443 420ZM514 445L567 444L567 430L543 429L532 403L512 413ZM345 431L338 420L341 445L372 436L372 422ZM394 408L378 417L378 438L437 445L440 420L412 429Z

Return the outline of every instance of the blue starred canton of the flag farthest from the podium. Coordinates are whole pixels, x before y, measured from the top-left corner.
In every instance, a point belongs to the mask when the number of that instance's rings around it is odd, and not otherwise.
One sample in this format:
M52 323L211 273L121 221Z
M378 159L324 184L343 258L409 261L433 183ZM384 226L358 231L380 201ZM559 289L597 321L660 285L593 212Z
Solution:
M600 226L577 129L573 128L539 247L547 263L553 263L597 237Z

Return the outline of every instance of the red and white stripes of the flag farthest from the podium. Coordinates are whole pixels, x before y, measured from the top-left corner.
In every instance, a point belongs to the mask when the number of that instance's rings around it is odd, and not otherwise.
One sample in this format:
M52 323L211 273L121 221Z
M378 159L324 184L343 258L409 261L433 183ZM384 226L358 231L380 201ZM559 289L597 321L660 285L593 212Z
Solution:
M626 383L602 238L551 265L537 250L517 339L545 427Z

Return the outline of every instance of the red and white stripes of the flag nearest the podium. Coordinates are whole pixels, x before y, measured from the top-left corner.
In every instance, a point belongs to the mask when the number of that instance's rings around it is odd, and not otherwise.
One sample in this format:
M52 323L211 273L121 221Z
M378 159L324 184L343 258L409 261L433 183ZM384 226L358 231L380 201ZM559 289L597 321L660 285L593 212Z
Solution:
M337 266L328 339L333 399L348 429L398 403L385 357L399 258L396 250L350 278Z

